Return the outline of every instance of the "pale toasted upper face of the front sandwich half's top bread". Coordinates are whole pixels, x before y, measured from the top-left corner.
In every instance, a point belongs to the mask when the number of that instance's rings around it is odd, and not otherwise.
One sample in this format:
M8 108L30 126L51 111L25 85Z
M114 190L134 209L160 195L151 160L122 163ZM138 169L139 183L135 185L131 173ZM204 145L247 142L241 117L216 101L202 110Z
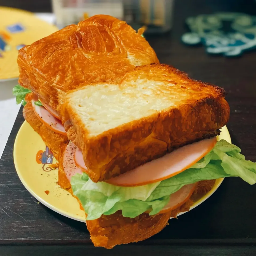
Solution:
M74 90L66 96L64 108L91 138L181 105L224 95L222 88L189 79L174 67L151 64L127 72L120 83Z

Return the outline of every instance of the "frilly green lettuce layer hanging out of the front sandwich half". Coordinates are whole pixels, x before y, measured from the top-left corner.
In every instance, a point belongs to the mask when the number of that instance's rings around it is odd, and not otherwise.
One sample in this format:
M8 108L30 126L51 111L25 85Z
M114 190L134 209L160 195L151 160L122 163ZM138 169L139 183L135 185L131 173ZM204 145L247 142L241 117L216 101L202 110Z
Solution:
M256 182L256 163L246 161L239 147L225 140L191 168L161 182L137 187L119 187L106 182L94 183L87 174L71 178L74 195L81 201L87 220L110 215L118 210L124 217L135 218L149 210L159 213L169 202L170 195L184 185L223 177L241 177L249 184Z

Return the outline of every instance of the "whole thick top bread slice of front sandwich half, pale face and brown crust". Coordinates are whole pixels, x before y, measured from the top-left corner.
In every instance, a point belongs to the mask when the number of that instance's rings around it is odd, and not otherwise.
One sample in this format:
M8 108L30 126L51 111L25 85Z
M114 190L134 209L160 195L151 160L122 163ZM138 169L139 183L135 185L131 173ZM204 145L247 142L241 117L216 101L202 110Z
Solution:
M219 134L230 112L224 96L222 88L168 65L145 65L120 83L69 93L62 122L82 149L90 178L98 182Z

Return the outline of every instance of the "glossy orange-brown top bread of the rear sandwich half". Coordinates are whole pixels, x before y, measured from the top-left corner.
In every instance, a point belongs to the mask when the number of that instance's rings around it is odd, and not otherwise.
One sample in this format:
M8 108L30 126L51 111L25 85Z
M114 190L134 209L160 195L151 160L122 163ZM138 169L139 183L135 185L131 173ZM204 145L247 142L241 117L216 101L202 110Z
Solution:
M149 43L124 21L95 15L19 50L19 84L59 111L69 90L118 82L135 66L158 63Z

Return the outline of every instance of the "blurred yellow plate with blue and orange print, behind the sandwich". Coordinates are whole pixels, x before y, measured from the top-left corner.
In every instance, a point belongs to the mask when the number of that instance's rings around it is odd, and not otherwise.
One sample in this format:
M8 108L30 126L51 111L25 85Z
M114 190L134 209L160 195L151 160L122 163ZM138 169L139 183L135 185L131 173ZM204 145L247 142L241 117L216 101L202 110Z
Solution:
M19 77L18 49L58 30L33 13L0 7L0 81Z

